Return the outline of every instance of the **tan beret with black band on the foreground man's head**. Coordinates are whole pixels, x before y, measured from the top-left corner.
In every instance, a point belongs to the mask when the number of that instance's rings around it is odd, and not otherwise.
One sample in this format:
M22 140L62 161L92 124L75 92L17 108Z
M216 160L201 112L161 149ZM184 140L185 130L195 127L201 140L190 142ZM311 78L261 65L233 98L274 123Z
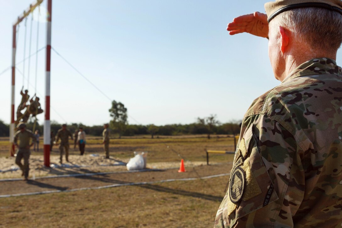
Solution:
M342 14L341 0L277 0L265 3L267 22L282 12L307 7L324 8Z

